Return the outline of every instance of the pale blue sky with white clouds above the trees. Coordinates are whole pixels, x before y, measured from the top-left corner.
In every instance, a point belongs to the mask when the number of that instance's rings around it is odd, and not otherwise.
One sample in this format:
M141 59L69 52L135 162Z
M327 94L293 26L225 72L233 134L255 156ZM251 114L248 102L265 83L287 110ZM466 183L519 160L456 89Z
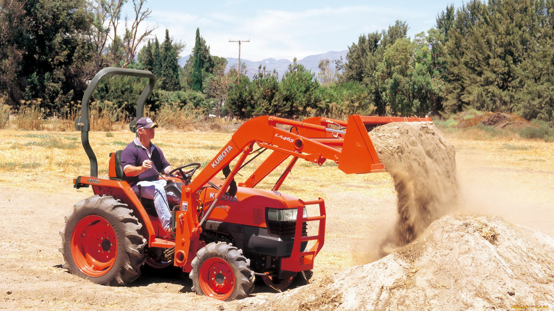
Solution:
M171 37L186 43L181 56L191 53L199 28L212 55L237 58L238 43L229 40L250 40L241 45L242 59L292 60L346 50L361 34L387 29L397 19L408 23L413 38L434 27L437 14L451 3L463 5L461 0L150 0L146 23L157 25L153 34L160 41L167 28ZM132 3L126 9L132 14Z

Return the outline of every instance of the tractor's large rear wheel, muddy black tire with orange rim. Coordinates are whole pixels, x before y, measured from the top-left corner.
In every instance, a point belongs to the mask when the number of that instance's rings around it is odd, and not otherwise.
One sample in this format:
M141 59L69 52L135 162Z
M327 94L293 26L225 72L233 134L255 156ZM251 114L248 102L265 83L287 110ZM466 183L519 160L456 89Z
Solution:
M101 285L135 281L146 259L146 239L132 212L112 196L93 195L75 204L60 230L63 268Z

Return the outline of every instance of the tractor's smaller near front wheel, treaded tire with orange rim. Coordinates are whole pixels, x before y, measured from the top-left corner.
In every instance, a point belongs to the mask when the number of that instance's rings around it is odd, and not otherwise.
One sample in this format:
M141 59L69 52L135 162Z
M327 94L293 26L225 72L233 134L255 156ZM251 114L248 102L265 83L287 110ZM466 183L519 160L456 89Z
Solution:
M219 300L247 298L254 289L254 272L242 250L225 242L202 247L192 260L192 290Z

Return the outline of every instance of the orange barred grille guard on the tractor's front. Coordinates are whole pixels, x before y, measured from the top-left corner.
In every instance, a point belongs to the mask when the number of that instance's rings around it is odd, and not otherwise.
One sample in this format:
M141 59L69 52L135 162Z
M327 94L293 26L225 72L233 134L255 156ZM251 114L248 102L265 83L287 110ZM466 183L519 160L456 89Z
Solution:
M319 253L325 241L325 215L326 215L325 202L321 198L313 201L306 201L304 202L304 205L301 205L298 207L298 210L296 212L296 215L303 215L302 212L304 211L304 207L306 205L315 205L315 204L319 205L319 212L321 216L314 216L314 217L307 217L307 218L296 217L296 230L294 234L293 252L291 253L289 258L281 259L281 269L287 270L287 271L300 272L300 271L306 271L314 268L315 256L317 256L317 253ZM302 236L302 222L316 221L316 220L319 221L319 230L317 232L317 235ZM311 240L316 241L314 246L312 246L312 248L307 252L301 252L300 251L301 243L305 241L311 241Z

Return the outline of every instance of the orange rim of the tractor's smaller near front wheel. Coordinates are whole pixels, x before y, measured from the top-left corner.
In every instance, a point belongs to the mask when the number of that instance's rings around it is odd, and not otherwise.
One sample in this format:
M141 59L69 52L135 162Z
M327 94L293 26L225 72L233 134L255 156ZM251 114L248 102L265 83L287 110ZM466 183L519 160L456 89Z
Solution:
M206 296L225 300L235 289L233 268L222 258L212 257L202 263L198 272L200 287Z

